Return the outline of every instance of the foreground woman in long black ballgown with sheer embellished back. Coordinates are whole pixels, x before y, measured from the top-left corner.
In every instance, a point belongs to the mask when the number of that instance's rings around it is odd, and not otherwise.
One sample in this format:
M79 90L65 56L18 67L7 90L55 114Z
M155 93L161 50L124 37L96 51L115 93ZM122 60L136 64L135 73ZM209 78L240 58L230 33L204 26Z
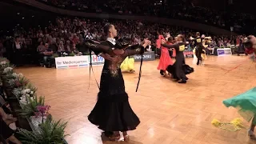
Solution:
M101 51L112 57L111 60L106 59L104 63L98 101L88 116L89 121L99 129L114 132L110 140L118 141L121 131L124 140L128 141L127 131L135 130L140 123L130 107L120 65L127 56L142 54L149 44L150 41L145 40L142 45L127 48L127 42L119 41L116 42L114 49L109 46L89 44L90 50Z

